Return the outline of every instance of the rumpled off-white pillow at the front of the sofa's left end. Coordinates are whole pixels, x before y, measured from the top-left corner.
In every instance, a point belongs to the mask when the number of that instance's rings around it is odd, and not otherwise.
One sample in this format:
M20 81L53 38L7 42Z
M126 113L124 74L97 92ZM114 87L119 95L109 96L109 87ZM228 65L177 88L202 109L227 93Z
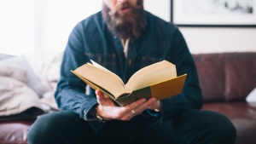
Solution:
M26 84L0 76L0 116L9 116L37 107L43 110L38 95Z

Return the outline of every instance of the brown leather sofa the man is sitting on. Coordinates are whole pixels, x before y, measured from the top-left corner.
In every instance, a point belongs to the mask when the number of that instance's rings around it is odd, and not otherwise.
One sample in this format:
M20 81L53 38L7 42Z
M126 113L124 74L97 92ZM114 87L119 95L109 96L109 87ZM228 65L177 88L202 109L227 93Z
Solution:
M256 103L245 99L256 87L256 52L193 56L204 96L203 109L230 118L236 126L236 144L255 144ZM0 144L27 143L27 130L37 114L22 114L19 119L0 121Z

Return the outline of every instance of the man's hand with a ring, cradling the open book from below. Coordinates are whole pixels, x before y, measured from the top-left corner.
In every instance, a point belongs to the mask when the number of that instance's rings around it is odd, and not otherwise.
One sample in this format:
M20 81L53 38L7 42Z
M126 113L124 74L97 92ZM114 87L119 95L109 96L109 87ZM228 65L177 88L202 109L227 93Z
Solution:
M96 97L99 103L97 113L104 120L119 119L128 121L147 108L152 110L160 109L160 101L156 101L155 98L150 98L148 101L143 98L125 107L117 107L113 101L105 97L100 90L96 90Z

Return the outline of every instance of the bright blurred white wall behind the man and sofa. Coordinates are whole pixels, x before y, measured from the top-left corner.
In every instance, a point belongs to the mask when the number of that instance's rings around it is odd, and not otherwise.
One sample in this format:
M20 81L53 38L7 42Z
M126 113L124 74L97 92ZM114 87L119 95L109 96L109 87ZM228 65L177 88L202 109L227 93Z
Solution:
M144 7L164 20L171 19L170 0L144 0ZM101 9L101 0L1 0L0 53L62 51L73 26ZM253 27L180 27L180 30L193 54L256 51Z

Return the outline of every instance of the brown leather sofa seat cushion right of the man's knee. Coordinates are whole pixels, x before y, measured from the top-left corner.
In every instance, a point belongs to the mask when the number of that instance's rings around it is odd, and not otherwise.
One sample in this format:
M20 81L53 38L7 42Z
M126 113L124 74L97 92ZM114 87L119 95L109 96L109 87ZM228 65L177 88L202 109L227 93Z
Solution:
M256 103L245 101L211 102L203 110L224 114L236 127L236 144L254 144L256 132Z

